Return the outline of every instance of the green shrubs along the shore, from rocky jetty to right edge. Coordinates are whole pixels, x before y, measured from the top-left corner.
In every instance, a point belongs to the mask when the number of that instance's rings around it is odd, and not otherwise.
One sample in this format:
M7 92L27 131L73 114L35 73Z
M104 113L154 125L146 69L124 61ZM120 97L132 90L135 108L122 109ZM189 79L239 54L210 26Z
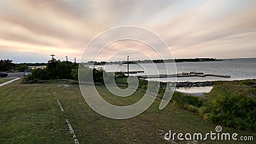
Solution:
M128 86L127 78L116 79L120 86ZM184 93L173 94L171 102L177 108L198 113L214 124L225 125L235 129L256 130L256 80L218 81L209 99L194 97ZM157 97L162 99L166 83L161 83ZM155 86L156 87L156 86ZM152 88L150 88L152 89ZM145 93L147 81L140 79L138 91ZM254 99L253 99L254 98Z

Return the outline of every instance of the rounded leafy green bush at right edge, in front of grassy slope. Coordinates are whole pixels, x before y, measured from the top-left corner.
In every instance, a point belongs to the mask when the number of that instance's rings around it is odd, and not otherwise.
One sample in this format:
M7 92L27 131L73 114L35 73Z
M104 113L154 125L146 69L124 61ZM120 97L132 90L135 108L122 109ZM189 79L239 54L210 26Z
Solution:
M199 112L215 124L256 130L256 100L241 94L220 95L208 106L200 108Z

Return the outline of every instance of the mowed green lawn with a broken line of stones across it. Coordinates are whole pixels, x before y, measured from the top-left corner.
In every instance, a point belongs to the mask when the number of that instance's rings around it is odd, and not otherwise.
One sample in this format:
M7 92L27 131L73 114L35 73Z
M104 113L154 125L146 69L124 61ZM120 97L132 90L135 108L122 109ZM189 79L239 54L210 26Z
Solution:
M215 132L215 124L170 104L159 110L156 100L134 118L114 120L99 115L83 99L78 85L20 84L21 80L0 87L0 143L74 143L68 131L69 120L79 143L167 143L164 134L172 132ZM143 94L118 98L104 86L97 86L102 97L116 105L129 105ZM54 94L55 93L55 94ZM89 94L89 93L88 93ZM56 99L60 100L61 112ZM222 132L254 136L252 132L223 127ZM253 141L177 141L178 143L252 143ZM174 143L174 141L170 141Z

